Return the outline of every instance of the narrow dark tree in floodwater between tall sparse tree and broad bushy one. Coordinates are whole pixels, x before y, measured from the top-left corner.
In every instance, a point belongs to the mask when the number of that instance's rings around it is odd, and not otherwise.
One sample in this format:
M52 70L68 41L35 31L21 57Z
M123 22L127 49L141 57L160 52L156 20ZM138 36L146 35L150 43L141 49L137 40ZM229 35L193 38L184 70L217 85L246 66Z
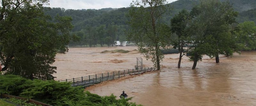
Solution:
M176 33L178 36L178 41L174 42L175 47L179 47L180 57L178 62L178 68L180 68L181 58L184 54L183 47L185 45L185 41L188 41L188 23L190 20L190 14L187 10L183 9L179 12L179 14L175 15L171 19L171 31Z

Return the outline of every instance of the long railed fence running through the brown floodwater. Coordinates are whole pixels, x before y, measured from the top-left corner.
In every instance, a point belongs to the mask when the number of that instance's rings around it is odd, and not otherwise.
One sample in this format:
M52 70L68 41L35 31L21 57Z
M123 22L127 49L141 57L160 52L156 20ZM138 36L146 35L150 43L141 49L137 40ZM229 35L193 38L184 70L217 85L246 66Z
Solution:
M124 71L118 71L118 72L111 72L111 73L105 73L105 74L95 74L95 75L89 75L85 77L79 77L79 78L73 78L73 79L66 79L61 80L60 82L72 82L71 86L89 86L96 83L100 83L102 81L108 81L117 79L120 77L124 77L127 75L135 75L135 74L142 74L149 71L155 71L155 68L140 68L140 69L132 69L132 70L124 70Z

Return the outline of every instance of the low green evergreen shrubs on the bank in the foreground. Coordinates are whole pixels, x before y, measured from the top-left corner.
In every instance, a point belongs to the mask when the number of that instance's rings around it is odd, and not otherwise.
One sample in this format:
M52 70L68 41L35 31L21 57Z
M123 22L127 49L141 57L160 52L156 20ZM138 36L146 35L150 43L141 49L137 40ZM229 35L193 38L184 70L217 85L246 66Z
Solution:
M137 106L128 99L99 96L68 82L28 80L17 75L0 76L0 93L26 97L54 106Z

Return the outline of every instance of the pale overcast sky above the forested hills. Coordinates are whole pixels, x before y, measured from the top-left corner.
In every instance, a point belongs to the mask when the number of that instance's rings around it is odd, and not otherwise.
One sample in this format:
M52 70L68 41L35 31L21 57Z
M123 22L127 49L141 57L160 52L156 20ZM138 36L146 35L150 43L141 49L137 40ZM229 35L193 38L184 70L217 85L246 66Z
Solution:
M167 0L172 3L177 0ZM46 7L60 7L65 9L102 9L129 7L132 0L50 0Z

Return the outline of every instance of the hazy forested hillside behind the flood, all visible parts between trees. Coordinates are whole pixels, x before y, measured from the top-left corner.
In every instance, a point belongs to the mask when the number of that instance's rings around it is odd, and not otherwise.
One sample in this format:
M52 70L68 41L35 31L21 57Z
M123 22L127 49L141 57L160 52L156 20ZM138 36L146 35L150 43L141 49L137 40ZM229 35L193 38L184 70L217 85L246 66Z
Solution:
M225 0L221 0L225 1ZM244 21L256 22L256 0L230 0L233 3L235 11L239 12L237 22ZM178 14L182 9L191 11L193 6L199 3L198 0L178 0L167 4L172 7L167 11L162 20L170 25L170 19ZM71 16L74 28L73 41L69 46L95 46L97 44L111 46L114 41L126 40L125 31L128 29L126 14L129 8L104 8L104 9L83 9L72 10L63 8L44 8L45 14L55 17Z

